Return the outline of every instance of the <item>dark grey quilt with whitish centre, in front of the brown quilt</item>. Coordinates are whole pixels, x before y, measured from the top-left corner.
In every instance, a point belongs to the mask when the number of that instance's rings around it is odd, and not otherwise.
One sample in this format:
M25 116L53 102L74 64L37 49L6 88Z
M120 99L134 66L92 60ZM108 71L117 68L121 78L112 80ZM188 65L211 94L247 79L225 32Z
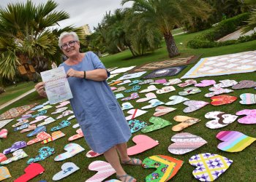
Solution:
M162 76L175 76L179 74L187 66L176 66L171 68L162 68L156 71L152 71L150 74L143 77L143 79L152 79Z

